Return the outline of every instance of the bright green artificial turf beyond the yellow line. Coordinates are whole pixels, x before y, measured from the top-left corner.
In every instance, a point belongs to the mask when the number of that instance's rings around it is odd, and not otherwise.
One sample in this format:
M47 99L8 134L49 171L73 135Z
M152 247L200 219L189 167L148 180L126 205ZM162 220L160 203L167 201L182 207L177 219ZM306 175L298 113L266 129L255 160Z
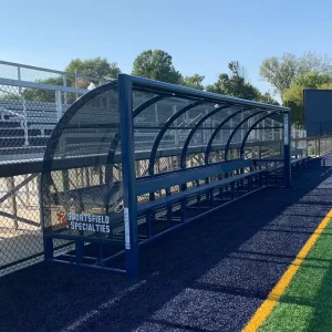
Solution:
M332 331L332 222L259 331Z

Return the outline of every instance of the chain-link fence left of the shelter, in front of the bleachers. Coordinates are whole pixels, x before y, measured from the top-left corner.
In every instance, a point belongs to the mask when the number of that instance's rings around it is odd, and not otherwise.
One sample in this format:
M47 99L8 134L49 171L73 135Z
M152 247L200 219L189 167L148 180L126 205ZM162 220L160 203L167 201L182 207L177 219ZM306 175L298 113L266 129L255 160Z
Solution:
M2 65L2 68L1 68ZM8 66L11 68L11 66ZM3 75L3 64L0 63ZM13 70L8 70L8 76ZM0 79L1 82L1 79ZM86 90L0 83L0 276L42 259L40 167L62 114ZM39 87L40 86L40 87ZM61 249L64 242L58 241Z

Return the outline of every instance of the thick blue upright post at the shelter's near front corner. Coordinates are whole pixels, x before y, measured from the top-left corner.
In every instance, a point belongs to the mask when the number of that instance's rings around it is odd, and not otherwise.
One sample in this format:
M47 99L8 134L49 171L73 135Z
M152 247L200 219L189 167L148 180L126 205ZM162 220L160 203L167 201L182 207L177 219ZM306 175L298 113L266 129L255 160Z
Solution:
M139 277L137 240L137 197L134 151L133 93L131 77L118 75L122 175L124 194L124 224L126 270L129 278Z

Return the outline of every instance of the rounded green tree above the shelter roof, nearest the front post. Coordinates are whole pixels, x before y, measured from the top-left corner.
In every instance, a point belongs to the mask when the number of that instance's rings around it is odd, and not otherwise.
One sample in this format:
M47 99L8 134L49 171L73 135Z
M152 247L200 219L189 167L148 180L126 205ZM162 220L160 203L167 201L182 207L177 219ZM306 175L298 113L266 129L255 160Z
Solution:
M162 50L142 52L134 61L133 75L179 84L181 74L175 70L172 56Z

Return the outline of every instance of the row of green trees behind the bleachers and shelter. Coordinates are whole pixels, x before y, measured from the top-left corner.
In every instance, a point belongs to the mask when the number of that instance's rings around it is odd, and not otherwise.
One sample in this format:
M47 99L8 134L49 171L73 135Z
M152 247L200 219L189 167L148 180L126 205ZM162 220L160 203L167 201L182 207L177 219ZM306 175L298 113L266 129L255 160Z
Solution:
M96 79L116 79L121 69L115 62L103 58L73 59L65 72ZM269 93L261 93L248 79L246 71L238 61L228 64L228 72L221 72L215 83L204 85L205 76L198 73L184 76L175 69L173 58L163 50L146 50L137 55L132 73L167 83L184 85L197 90L206 90L246 100L255 100L269 104L278 104ZM274 93L281 96L282 104L293 110L293 121L303 124L303 90L332 89L332 61L326 55L307 52L302 56L283 53L281 58L270 56L260 65L260 76L269 82ZM63 77L49 77L38 81L45 84L63 85ZM90 80L66 77L68 86L86 89ZM98 82L94 82L97 83ZM25 89L22 92L25 100L54 102L52 91ZM72 100L69 100L72 102Z

